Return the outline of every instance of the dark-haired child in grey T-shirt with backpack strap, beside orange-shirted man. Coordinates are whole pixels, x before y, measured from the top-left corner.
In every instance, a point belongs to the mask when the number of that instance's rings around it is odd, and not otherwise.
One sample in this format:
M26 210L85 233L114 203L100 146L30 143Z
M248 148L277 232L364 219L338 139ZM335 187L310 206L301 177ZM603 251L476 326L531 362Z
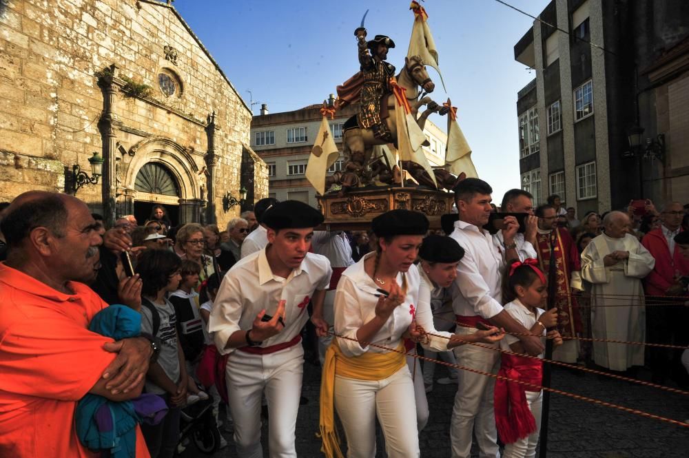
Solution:
M187 370L176 331L174 307L165 298L181 280L181 260L172 251L147 249L138 257L136 273L141 287L141 331L161 340L157 362L146 375L147 393L160 395L167 415L155 426L142 425L151 458L172 458L179 439L180 408L187 402Z

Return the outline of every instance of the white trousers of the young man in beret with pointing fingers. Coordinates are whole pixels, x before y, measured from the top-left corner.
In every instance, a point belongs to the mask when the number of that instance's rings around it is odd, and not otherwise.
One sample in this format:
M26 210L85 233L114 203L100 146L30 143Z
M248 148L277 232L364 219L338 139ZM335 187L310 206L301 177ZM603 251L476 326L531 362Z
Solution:
M269 355L234 351L227 360L227 397L234 419L239 458L263 458L260 444L261 397L268 402L271 458L296 458L294 431L304 373L300 344Z

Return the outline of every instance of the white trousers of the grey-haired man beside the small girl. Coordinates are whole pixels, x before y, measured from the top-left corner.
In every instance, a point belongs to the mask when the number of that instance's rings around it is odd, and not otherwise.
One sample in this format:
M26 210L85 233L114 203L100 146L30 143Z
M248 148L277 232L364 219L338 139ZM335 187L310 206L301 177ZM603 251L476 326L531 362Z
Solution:
M457 326L458 334L472 334L475 328ZM486 344L482 344L486 345ZM492 344L497 348L497 344ZM497 374L500 368L500 352L470 344L454 348L457 364L478 371ZM480 458L500 458L493 410L495 379L487 375L459 369L457 395L450 423L452 458L471 456L472 434L475 433Z

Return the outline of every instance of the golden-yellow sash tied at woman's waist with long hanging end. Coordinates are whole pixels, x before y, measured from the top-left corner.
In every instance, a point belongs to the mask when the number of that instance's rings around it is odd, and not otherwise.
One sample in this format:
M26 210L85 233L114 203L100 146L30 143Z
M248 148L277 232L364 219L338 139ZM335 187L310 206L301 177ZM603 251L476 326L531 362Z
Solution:
M344 458L340 450L340 438L335 430L335 376L359 380L382 380L399 371L407 361L404 358L404 344L389 353L372 353L347 357L337 343L337 338L328 347L320 379L320 435L322 452L326 458Z

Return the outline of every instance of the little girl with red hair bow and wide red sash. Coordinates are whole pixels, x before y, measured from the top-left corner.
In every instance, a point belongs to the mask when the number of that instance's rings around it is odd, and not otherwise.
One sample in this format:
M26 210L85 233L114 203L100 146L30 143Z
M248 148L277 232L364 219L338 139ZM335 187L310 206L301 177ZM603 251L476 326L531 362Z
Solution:
M504 309L535 335L553 339L553 345L562 344L557 330L547 331L557 325L557 309L544 311L548 292L546 277L537 267L537 260L512 262L506 277L504 297L511 302ZM503 350L526 353L520 340L506 335L500 342ZM539 355L540 358L543 354ZM533 385L542 384L543 363L519 355L502 354L498 375L517 379ZM495 382L495 423L497 433L505 444L503 458L533 458L538 443L541 424L543 390L497 380Z

